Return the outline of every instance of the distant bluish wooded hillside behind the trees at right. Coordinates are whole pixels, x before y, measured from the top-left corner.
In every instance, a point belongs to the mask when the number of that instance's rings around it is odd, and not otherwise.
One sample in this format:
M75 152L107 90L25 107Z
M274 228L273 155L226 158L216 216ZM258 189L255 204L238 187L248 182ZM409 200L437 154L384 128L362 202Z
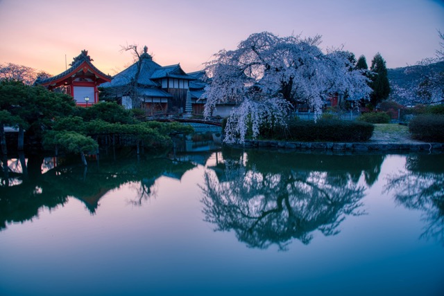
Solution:
M387 76L392 90L395 90L396 86L400 89L412 89L418 86L418 84L428 75L440 72L444 72L444 62L438 62L426 66L415 65L387 69ZM395 100L400 104L412 104L411 101L409 102L408 99L402 98L395 91L392 91L390 97L392 100Z

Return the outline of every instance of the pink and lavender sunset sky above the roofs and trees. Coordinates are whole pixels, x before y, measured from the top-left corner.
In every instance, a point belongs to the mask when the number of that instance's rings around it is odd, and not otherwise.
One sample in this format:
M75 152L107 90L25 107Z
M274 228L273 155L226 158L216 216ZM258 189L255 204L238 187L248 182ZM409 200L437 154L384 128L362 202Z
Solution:
M104 73L133 62L121 46L148 46L155 62L198 71L214 53L252 33L323 36L368 66L388 68L434 57L444 31L443 0L0 0L0 63L56 75L83 49Z

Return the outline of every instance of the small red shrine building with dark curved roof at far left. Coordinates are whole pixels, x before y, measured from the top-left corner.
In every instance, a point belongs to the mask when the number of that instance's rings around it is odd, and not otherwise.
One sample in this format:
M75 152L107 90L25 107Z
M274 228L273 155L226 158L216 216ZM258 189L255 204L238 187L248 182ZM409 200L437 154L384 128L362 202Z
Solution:
M96 68L92 61L87 50L82 50L80 55L74 57L73 62L69 64L70 68L65 72L44 80L37 80L35 84L40 84L50 91L65 89L78 106L99 102L97 87L104 82L110 82L111 77Z

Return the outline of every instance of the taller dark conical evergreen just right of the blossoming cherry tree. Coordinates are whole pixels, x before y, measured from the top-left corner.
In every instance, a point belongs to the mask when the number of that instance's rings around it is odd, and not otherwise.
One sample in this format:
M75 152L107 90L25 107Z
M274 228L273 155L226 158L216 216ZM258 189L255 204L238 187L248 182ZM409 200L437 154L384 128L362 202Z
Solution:
M375 57L373 57L370 71L373 72L370 76L370 87L373 89L373 93L370 94L370 104L376 107L379 102L386 100L390 94L386 61L380 53L377 53Z

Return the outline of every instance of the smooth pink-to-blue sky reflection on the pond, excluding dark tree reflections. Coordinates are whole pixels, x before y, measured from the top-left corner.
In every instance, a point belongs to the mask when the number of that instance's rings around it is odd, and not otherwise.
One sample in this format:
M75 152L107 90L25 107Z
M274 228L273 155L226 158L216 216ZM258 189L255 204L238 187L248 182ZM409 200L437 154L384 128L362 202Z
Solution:
M207 166L215 164L213 154ZM157 178L155 196L141 206L130 202L137 183L105 194L95 214L71 197L0 232L0 294L438 295L443 247L419 239L420 211L384 193L386 176L404 164L404 156L386 156L362 200L366 215L284 252L246 248L203 222L200 165L180 180Z

